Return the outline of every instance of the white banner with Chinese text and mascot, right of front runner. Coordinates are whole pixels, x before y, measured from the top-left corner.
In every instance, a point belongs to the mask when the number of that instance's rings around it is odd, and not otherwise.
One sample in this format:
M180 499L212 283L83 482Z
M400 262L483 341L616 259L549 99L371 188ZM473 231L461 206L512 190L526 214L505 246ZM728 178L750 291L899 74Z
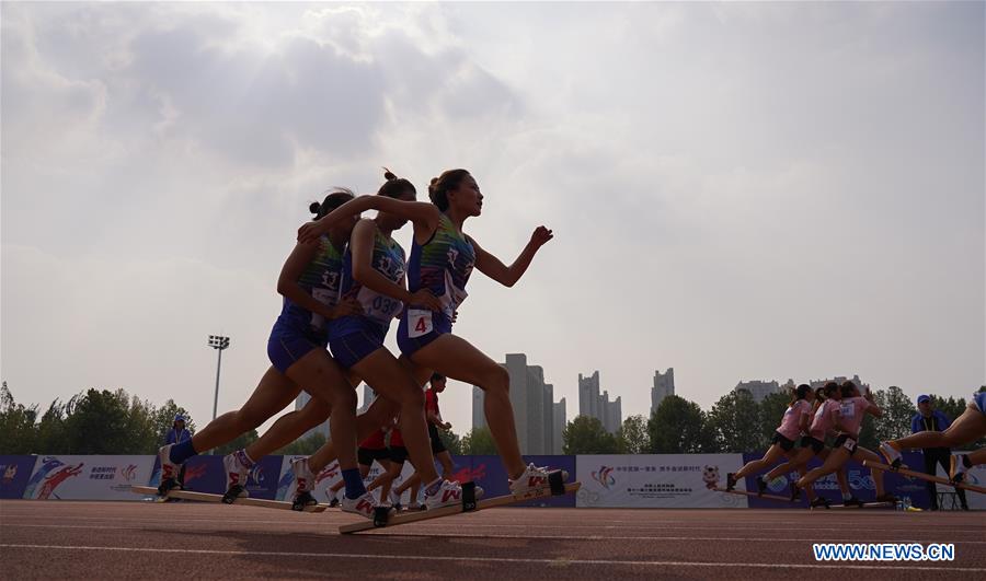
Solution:
M746 508L746 497L712 490L742 454L578 455L576 507Z

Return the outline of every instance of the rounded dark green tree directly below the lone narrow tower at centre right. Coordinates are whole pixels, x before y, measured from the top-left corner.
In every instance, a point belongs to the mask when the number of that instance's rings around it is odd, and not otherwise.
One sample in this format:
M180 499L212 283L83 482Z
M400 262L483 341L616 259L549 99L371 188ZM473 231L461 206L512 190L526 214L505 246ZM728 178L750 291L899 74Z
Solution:
M706 415L695 402L677 395L665 397L647 420L650 452L654 454L697 454L712 452L713 442L706 427Z

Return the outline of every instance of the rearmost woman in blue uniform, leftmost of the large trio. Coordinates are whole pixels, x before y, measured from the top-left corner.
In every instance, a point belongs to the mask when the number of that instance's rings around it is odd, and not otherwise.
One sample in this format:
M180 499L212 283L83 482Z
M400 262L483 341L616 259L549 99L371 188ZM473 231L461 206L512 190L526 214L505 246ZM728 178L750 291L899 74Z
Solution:
M311 209L317 218L324 217L352 198L348 190L334 191L322 204L313 204ZM271 369L243 407L219 416L191 440L159 451L162 491L177 484L180 466L187 458L255 429L290 404L302 386L312 394L311 402L303 409L280 418L278 423L294 425L289 431L303 433L331 412L333 437L340 442L354 440L353 446L347 446L353 453L341 455L341 466L351 463L355 467L356 394L329 356L325 345L330 319L362 312L358 302L340 299L339 294L343 253L357 219L357 216L351 216L337 221L326 235L299 243L291 252L277 282L284 305L267 341ZM228 495L245 496L243 487L254 460L259 458L249 457L244 451L223 458Z

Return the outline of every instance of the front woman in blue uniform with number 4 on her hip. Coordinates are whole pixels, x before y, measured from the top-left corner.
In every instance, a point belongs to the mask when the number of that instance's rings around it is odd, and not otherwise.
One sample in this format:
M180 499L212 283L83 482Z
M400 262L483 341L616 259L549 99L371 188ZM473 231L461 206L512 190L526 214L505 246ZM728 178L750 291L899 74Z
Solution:
M367 209L399 213L412 220L414 241L408 271L409 290L431 291L439 299L439 304L412 303L404 310L398 328L402 358L412 363L419 387L434 372L480 386L485 392L486 421L507 468L511 490L523 493L547 487L548 470L532 464L525 465L520 456L509 399L509 375L469 341L452 335L451 316L466 299L466 283L473 267L493 280L513 287L530 266L538 249L552 239L552 232L544 226L536 229L517 259L506 266L462 231L465 221L480 216L483 206L483 195L469 172L447 171L434 178L428 189L432 204L360 196L340 208L337 218L328 217L301 226L299 240L318 237L335 219ZM387 406L392 407L392 404L386 397L378 398L367 414L372 412L374 407ZM405 417L403 411L401 416ZM375 417L374 421L378 419ZM372 422L366 423L367 429L371 429ZM359 429L363 430L363 427Z

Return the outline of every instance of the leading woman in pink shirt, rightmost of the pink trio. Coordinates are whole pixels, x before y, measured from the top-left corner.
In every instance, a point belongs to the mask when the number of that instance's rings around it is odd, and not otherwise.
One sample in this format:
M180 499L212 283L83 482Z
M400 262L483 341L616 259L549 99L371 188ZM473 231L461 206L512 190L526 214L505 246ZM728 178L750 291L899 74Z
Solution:
M832 416L835 429L838 431L835 446L822 466L794 483L792 498L796 498L801 489L807 488L818 478L839 469L853 455L860 462L869 460L879 463L882 460L875 452L861 448L857 441L863 415L870 414L879 418L883 415L883 410L873 403L873 396L869 391L865 397L860 396L859 388L852 382L847 381L842 384L841 394L842 399L839 402L838 408L823 414ZM873 484L876 485L876 502L894 502L896 499L884 492L883 470L871 468L870 473L873 476Z

